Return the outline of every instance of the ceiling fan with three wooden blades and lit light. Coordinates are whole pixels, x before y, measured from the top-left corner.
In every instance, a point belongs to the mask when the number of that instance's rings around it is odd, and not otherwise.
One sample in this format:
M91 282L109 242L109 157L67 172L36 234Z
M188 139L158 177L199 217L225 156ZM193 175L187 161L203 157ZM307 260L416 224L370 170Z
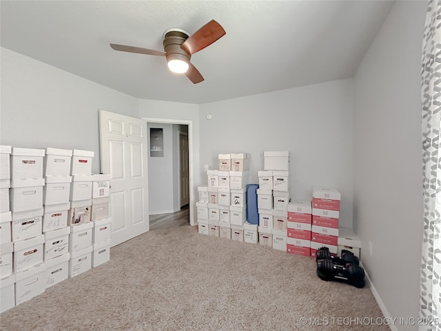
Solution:
M192 35L185 30L177 28L166 30L163 36L164 52L134 46L118 45L116 43L111 43L110 47L123 52L165 56L167 66L172 72L185 73L185 76L196 84L201 83L204 78L201 72L192 65L190 58L194 53L203 50L224 35L225 30L213 19Z

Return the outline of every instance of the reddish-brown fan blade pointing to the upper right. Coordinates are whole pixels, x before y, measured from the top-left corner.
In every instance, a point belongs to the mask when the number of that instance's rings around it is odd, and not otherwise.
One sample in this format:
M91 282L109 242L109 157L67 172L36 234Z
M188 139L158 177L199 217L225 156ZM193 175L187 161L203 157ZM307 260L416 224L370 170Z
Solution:
M207 46L210 46L214 41L225 35L225 30L214 19L209 21L205 26L194 32L184 43L181 48L188 54L192 55Z

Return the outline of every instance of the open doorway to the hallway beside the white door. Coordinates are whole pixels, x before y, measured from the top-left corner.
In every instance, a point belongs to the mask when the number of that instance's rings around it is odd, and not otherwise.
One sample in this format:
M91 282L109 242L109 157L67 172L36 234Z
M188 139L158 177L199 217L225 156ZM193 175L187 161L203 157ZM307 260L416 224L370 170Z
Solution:
M191 123L147 121L150 230L191 225Z

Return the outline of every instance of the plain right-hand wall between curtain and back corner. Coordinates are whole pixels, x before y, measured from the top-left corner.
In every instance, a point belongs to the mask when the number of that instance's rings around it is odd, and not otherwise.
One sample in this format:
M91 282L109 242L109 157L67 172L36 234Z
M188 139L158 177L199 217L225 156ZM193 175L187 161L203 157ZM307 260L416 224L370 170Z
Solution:
M426 6L396 1L355 77L354 217L363 264L391 317L418 317L419 309Z

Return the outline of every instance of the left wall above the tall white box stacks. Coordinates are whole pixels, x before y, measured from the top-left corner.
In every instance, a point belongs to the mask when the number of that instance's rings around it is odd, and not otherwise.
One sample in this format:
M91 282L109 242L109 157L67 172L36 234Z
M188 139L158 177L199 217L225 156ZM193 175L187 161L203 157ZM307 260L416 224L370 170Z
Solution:
M100 170L99 109L139 117L138 99L1 48L3 145L93 150Z

